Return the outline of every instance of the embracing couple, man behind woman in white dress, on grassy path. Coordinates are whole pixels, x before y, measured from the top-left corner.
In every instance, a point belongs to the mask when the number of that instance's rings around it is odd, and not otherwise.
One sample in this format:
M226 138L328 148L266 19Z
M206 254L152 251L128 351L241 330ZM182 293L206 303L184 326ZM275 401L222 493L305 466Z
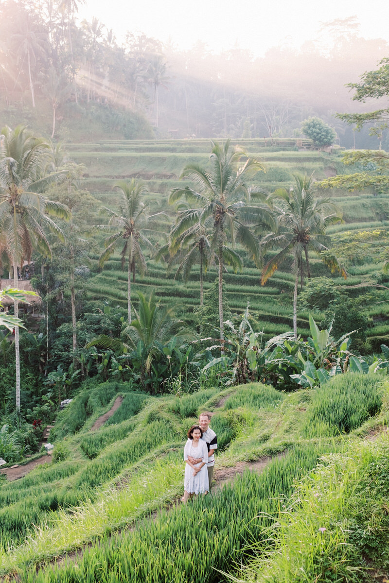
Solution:
M192 425L187 433L188 441L184 448L185 480L183 503L194 494L207 494L212 487L215 449L218 440L215 431L209 427L211 415L201 413L198 425Z

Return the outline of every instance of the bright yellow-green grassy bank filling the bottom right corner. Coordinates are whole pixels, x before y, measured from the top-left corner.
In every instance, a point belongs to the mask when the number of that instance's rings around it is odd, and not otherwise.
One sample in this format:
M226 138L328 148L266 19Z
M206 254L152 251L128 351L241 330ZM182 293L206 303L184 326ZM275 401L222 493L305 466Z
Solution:
M263 556L257 547L259 559L243 570L242 583L386 580L388 443L349 444L327 463L302 480L268 529L274 550Z

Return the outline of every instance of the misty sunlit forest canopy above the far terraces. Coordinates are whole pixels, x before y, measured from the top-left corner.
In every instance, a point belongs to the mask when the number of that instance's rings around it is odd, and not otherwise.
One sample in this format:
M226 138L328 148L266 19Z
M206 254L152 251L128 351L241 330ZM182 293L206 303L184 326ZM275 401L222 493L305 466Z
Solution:
M351 147L351 128L333 118L349 110L345 79L358 78L389 48L382 39L363 38L355 18L324 24L325 50L306 43L254 58L239 47L214 54L201 43L179 51L131 30L119 44L96 17L79 22L77 2L48 8L8 0L0 17L5 121L45 125L56 139L68 139L69 131L76 137L80 115L91 125L90 137L98 126L126 139L290 137L317 116ZM362 112L358 101L352 106ZM367 132L357 141L357 147L377 143Z

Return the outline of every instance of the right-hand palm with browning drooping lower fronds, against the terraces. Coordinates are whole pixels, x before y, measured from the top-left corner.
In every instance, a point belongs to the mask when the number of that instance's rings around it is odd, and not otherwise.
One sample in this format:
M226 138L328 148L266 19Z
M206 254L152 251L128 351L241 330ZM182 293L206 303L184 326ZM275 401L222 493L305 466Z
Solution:
M341 216L334 203L313 192L313 175L295 175L295 187L290 191L280 188L270 196L274 211L278 217L278 230L269 233L262 240L264 249L282 247L264 266L261 283L265 285L278 267L293 255L293 272L295 273L295 291L293 294L293 333L297 338L297 289L304 285L304 265L310 278L309 249L320 254L327 251L331 244L330 236L325 231L330 224L338 223ZM337 259L325 259L333 272L337 269L345 277L344 269Z

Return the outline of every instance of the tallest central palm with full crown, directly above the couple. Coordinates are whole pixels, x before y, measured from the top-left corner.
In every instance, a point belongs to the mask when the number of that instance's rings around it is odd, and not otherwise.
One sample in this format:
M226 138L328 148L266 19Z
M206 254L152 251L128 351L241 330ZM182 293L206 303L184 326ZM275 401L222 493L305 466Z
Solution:
M266 224L274 229L275 221L265 202L265 195L257 187L247 184L247 180L258 171L264 171L262 164L250 158L241 147L230 147L230 140L224 146L214 142L211 144L209 170L197 164L188 164L181 174L181 178L192 180L196 189L176 188L171 192L169 201L176 202L184 197L189 203L195 203L198 209L192 213L193 224L199 222L212 230L211 248L219 263L219 323L223 346L223 269L226 264L241 267L241 259L233 250L235 243L246 248L258 265L260 245L250 226ZM255 201L258 201L256 205Z

